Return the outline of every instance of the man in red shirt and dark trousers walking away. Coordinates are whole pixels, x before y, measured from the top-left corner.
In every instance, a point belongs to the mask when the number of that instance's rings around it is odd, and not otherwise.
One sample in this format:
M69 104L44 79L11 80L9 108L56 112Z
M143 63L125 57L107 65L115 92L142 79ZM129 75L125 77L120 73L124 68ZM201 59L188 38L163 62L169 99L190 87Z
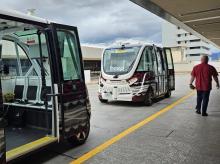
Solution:
M208 116L207 107L209 103L209 95L212 89L212 77L216 82L216 87L219 89L218 72L215 67L208 64L208 56L202 56L201 64L196 65L191 73L190 88L197 90L197 105L196 113L202 116ZM196 79L196 87L193 86L193 81Z

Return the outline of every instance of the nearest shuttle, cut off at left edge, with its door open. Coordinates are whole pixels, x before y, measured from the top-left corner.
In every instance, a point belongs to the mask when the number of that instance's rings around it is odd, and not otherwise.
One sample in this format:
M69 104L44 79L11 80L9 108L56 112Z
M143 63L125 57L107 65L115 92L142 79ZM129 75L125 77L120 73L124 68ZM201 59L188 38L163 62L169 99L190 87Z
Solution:
M0 164L50 143L83 144L90 102L77 28L0 10Z

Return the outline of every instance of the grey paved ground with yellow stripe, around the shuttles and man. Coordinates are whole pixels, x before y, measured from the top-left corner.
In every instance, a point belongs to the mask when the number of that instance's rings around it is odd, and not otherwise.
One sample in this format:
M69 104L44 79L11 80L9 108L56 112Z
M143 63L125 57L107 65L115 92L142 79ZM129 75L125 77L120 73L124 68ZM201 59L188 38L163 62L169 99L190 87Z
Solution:
M210 115L204 118L194 112L196 97L188 81L189 75L177 75L171 98L151 107L102 104L98 86L89 84L92 119L87 142L79 147L53 144L17 163L220 163L219 91L213 90Z

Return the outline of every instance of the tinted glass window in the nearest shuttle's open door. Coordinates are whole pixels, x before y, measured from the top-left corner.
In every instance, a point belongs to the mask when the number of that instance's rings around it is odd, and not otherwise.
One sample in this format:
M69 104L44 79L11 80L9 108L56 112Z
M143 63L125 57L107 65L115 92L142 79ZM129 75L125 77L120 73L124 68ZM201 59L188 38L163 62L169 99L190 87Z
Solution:
M59 48L64 80L82 78L80 58L75 34L69 31L58 31Z

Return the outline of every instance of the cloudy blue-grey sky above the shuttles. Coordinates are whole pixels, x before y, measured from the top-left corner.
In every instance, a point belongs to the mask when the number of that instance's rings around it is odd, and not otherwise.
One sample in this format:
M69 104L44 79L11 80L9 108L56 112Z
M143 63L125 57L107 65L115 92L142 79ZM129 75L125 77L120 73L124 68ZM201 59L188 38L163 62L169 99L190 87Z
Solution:
M4 8L78 27L82 43L112 43L117 40L161 42L159 17L129 0L1 0Z

